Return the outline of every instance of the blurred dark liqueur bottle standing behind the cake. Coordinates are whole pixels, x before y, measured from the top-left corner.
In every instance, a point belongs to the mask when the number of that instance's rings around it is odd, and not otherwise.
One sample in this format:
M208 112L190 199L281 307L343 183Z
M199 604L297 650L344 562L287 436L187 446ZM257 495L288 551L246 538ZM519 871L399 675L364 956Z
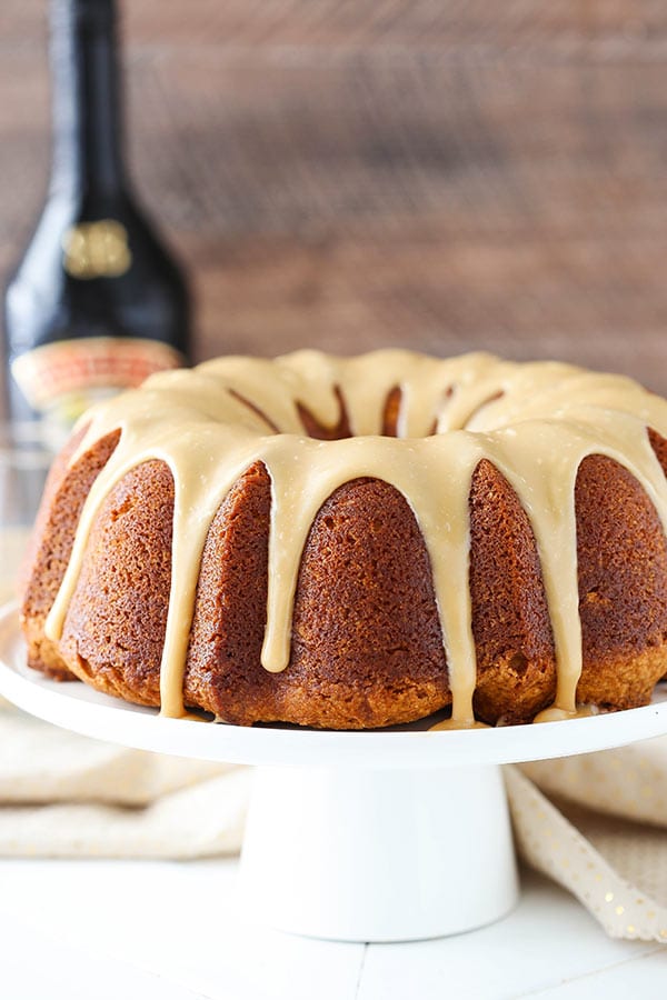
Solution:
M57 449L92 402L188 356L178 266L123 171L115 0L52 0L47 203L4 301L14 443Z

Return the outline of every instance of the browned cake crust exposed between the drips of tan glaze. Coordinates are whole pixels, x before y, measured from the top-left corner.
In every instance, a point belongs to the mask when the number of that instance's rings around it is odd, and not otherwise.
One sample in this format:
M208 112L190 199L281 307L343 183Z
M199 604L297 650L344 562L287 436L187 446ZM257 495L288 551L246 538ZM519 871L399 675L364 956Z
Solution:
M396 406L388 400L386 429L395 426ZM346 424L342 411L339 430ZM667 442L649 433L667 469ZM43 636L81 507L117 441L118 433L107 436L68 470L73 441L57 462L26 574L22 621L30 666L158 706L173 510L163 462L145 462L112 489L62 639L54 644ZM406 500L378 480L346 483L320 509L299 573L289 667L275 674L260 666L270 502L269 477L257 463L209 529L186 703L240 724L282 720L337 729L410 721L449 704L426 547ZM579 468L576 510L578 700L608 709L646 703L667 659L667 547L658 516L629 472L596 454ZM476 713L494 723L528 721L555 696L551 626L530 523L487 460L472 479L470 517Z

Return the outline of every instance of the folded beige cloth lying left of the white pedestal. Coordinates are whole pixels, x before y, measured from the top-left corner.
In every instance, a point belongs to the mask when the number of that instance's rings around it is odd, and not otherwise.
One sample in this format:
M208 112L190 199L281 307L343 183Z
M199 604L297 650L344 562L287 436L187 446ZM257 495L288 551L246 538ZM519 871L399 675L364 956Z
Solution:
M250 769L127 750L0 706L0 854L203 858L239 850Z

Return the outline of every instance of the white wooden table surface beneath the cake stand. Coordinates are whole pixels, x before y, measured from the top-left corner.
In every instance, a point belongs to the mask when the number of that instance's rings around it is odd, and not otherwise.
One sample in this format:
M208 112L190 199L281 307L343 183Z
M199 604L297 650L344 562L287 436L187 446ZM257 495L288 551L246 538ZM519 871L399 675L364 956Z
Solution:
M349 944L239 922L237 861L0 861L7 1000L545 1000L667 994L667 948L613 941L567 893L524 873L490 927Z

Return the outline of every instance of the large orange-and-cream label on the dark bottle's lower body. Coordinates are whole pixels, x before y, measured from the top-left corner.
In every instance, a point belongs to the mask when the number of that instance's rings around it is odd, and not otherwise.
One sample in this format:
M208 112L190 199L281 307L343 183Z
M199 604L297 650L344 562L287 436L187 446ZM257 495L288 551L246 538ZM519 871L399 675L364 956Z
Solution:
M42 443L59 450L93 403L183 363L179 351L156 340L84 337L27 351L13 360L11 373L40 417Z

